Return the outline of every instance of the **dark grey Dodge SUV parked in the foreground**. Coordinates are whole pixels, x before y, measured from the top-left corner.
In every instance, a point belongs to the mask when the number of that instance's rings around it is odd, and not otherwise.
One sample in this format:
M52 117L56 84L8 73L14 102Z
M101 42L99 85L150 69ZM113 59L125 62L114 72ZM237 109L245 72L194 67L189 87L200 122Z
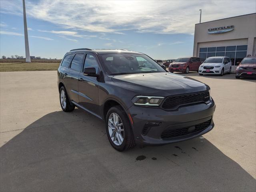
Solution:
M214 127L210 87L139 52L70 50L58 68L58 90L62 110L77 106L104 120L119 151L188 140Z

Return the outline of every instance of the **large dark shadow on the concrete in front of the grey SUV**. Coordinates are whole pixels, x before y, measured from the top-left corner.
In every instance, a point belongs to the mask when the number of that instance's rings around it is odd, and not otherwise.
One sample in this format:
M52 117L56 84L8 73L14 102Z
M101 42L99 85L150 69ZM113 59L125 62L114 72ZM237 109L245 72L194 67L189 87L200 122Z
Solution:
M72 116L72 118L68 118ZM205 138L114 150L104 122L46 114L0 148L0 191L254 191L255 179Z

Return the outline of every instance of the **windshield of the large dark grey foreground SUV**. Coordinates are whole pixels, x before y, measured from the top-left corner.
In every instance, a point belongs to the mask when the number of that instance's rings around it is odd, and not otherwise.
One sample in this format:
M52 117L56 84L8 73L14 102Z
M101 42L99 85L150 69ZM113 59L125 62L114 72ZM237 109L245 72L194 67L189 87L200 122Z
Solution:
M159 64L143 54L100 54L110 75L166 72Z

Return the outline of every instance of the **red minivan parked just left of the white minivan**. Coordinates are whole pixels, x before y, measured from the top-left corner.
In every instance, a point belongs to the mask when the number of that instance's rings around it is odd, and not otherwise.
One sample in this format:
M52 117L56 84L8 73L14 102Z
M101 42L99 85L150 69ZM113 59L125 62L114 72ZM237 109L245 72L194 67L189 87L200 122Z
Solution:
M203 60L199 57L182 57L176 59L169 66L169 72L183 72L188 73L190 71L197 71L199 66L202 64Z

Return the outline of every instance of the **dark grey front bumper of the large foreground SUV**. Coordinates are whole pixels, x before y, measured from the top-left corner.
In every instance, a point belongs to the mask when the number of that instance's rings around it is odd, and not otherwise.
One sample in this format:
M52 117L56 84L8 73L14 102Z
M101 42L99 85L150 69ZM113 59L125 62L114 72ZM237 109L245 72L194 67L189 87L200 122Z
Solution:
M212 130L215 108L214 101L211 100L208 104L181 106L175 111L131 106L128 112L134 122L133 133L136 142L143 145L161 145L192 139ZM147 122L160 122L160 125L147 128L145 126ZM194 127L204 122L209 124L200 130L193 131ZM189 132L187 132L188 129L190 129ZM166 133L169 132L177 132L178 135L166 137Z

